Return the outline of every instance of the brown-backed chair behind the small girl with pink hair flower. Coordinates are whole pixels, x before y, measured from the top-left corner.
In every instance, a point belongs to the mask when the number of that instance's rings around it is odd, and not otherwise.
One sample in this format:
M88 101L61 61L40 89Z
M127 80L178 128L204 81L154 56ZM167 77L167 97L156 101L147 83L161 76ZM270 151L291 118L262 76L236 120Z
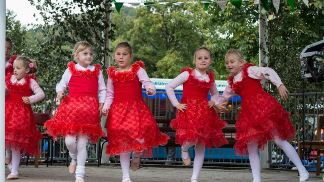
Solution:
M37 126L44 126L44 123L51 119L51 116L49 113L35 113L34 112L34 118L35 118L35 122L37 124ZM46 132L42 132L43 134L43 140L47 140L49 143L51 144L54 144L54 139L51 135L49 135L48 133ZM50 145L47 146L47 151L49 151L49 147ZM53 165L53 155L54 155L54 148L51 147L51 165ZM49 156L50 156L50 153L48 152L48 155L47 155L47 167L49 166ZM29 156L27 157L27 162L26 162L26 165L28 165L28 159L29 159ZM35 156L35 167L38 167L38 160L39 160L39 156ZM66 166L68 166L68 153L66 154Z

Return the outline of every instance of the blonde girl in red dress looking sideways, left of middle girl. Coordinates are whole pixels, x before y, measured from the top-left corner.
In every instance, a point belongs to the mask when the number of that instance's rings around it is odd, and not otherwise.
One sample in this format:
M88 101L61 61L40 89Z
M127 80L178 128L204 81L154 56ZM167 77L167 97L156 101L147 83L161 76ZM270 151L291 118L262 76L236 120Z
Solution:
M65 144L72 158L69 172L75 172L75 182L83 182L87 160L87 141L96 144L106 134L100 125L101 108L106 94L101 66L93 61L92 45L79 41L74 45L74 60L69 62L60 83L56 86L57 99L62 100L51 120L45 123L46 132L65 137ZM99 101L98 101L99 95ZM76 142L75 142L76 141Z

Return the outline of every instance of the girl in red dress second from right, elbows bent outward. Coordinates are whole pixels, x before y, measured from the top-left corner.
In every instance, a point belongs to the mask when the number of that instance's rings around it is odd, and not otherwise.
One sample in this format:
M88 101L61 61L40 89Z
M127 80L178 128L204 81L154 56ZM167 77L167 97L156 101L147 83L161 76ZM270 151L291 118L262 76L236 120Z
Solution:
M192 182L197 182L204 163L205 148L228 144L222 132L226 122L221 120L214 109L219 94L215 84L215 74L207 71L212 63L212 53L207 48L199 48L194 54L195 69L183 69L181 74L166 86L166 92L173 106L178 109L171 126L176 130L176 143L181 145L184 165L191 164L188 150L195 146ZM179 103L174 89L183 84L183 97ZM208 101L208 93L211 100Z

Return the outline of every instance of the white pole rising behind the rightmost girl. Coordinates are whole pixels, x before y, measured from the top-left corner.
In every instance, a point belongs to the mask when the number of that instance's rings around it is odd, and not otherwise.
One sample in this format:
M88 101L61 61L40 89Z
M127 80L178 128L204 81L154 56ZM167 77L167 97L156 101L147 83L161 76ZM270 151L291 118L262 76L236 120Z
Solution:
M261 13L262 6L261 1L259 1L259 66L268 67L268 48L267 48L267 27L268 27L268 19L266 14ZM262 87L267 88L267 84L262 81ZM269 159L269 145L260 152L260 162L261 168L266 169L269 167L268 159Z

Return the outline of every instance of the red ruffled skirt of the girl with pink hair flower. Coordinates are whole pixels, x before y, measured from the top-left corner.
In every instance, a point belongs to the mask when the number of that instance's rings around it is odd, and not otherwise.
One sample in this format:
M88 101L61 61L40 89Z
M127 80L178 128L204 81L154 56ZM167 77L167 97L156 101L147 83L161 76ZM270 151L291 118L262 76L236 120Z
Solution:
M38 141L43 139L37 130L30 105L6 102L6 149L19 149L28 155L39 155Z

